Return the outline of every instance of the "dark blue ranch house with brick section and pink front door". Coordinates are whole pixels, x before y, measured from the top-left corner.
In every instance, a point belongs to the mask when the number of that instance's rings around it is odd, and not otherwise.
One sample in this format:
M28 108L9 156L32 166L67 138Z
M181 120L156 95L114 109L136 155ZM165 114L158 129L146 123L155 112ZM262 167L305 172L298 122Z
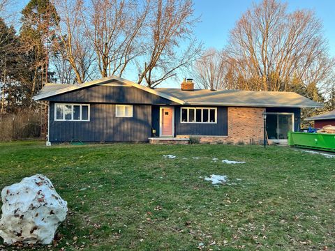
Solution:
M34 97L49 102L48 142L200 142L259 144L299 131L300 108L322 107L297 93L149 89L120 77L85 84L46 84ZM150 139L150 140L149 140Z

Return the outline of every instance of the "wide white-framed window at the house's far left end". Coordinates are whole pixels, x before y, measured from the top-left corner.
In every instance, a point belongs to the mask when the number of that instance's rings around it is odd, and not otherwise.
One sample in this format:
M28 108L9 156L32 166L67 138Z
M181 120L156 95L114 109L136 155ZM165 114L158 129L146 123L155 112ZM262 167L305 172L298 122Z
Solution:
M54 121L89 121L89 104L54 104Z

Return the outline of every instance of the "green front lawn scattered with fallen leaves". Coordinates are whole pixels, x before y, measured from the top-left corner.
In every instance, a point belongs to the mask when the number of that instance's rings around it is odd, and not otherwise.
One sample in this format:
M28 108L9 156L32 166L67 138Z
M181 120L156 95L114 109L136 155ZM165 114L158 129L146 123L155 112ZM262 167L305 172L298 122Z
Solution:
M38 173L69 208L59 240L40 250L335 250L334 158L279 146L0 144L0 188ZM236 185L215 187L210 174Z

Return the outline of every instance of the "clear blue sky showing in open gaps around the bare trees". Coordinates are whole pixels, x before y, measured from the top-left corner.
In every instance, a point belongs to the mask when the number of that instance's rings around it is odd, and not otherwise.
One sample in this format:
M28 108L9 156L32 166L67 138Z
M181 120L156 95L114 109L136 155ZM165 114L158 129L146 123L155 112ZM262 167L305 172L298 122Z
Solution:
M15 1L15 0L13 0ZM29 0L16 0L13 10L20 11ZM195 17L201 22L195 26L195 36L207 47L216 47L219 50L228 43L229 31L233 29L239 17L261 0L193 0ZM329 54L335 56L335 0L288 0L288 10L301 8L314 10L315 15L322 21L325 37L329 41ZM129 73L128 73L129 74ZM124 76L127 78L127 75ZM179 79L191 76L179 76ZM132 77L131 77L132 78ZM136 80L136 79L131 79ZM179 83L170 80L161 86L177 87Z

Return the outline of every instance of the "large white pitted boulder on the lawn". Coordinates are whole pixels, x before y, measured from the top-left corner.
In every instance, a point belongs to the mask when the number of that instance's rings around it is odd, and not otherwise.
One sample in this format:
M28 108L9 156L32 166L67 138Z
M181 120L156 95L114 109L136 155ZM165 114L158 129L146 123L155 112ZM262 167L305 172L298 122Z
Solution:
M49 244L68 212L67 202L42 174L3 188L0 236L7 244Z

